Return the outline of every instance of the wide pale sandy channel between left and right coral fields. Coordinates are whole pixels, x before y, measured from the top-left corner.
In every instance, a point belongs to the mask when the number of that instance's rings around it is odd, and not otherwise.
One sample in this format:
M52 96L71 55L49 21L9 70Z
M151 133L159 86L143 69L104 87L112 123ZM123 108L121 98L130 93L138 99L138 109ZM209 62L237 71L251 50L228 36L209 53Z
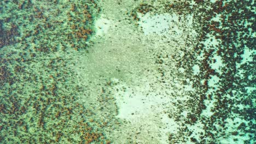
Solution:
M188 100L188 91L194 91L189 80L183 85L179 73L185 70L177 68L172 58L186 55L183 49L193 49L193 44L187 45L197 37L193 15L146 14L136 26L125 15L126 8L136 5L123 4L125 9L117 8L116 1L102 2L103 16L95 23L96 37L91 39L86 56L77 62L76 69L91 92L84 101L95 103L99 118L112 116L105 134L113 143L165 144L169 134L178 133L181 127L175 116L168 116L170 110L178 109L173 104ZM158 55L162 64L156 63ZM96 100L108 98L113 101L106 103L115 111L97 112L101 105Z

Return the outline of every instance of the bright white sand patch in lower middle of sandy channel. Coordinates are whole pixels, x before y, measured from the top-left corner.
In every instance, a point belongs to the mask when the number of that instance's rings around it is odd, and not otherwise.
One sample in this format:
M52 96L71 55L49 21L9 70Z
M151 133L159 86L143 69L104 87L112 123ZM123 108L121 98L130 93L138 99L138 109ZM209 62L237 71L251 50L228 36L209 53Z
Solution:
M119 118L124 118L129 121L133 119L156 115L164 110L164 104L170 103L171 99L164 97L164 94L159 95L159 91L150 92L150 86L138 86L129 88L125 84L115 86L113 89L123 89L125 91L115 92L115 98L119 107ZM141 121L141 120L139 120Z

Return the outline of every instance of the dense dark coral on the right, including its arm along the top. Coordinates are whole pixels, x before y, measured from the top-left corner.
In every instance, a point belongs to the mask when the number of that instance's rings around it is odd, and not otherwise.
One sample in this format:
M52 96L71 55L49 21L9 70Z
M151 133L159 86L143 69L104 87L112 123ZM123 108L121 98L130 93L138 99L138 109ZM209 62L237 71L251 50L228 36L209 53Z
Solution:
M186 93L189 95L186 101L173 103L178 110L170 110L169 117L182 124L178 133L170 131L170 143L223 143L226 139L234 143L255 143L255 90L248 90L255 87L255 55L251 56L253 61L242 62L246 50L254 51L253 1L195 1L193 6L191 1L183 1L163 5L159 8L164 9L165 13L193 14L194 20L199 22L199 25L194 26L195 31L200 34L197 41L194 41L193 51L185 48L182 59L172 57L177 60L176 66L185 71L181 79L193 82L196 92ZM159 13L157 8L149 6L141 4L133 10L133 20L139 20L137 13ZM219 21L213 19L218 16ZM208 39L216 39L220 43L209 45L209 42L206 43ZM199 61L198 57L201 56L202 60ZM222 58L223 67L220 69L211 66L216 63L215 56ZM156 58L158 64L168 65L162 60L165 56ZM193 73L193 65L199 65L198 75ZM164 77L166 71L161 68L159 71ZM219 78L214 87L210 84L213 77ZM184 81L184 85L187 83ZM213 115L210 117L203 115L208 106L206 101L213 103L210 107ZM184 110L189 111L186 117L181 115ZM196 125L203 125L203 129L190 129Z

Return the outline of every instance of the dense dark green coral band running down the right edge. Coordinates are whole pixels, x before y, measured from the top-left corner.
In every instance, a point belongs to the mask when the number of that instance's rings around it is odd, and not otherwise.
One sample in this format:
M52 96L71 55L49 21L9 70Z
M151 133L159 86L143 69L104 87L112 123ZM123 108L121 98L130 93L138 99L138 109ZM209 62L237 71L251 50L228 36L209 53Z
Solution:
M171 142L191 141L195 143L221 143L220 140L230 136L239 135L249 137L244 143L253 143L255 139L255 91L247 92L248 87L255 87L255 64L254 62L242 63L242 54L246 48L254 50L254 23L255 17L252 11L252 1L225 2L217 1L216 3L206 3L196 1L198 4L194 9L195 14L201 13L202 34L200 42L194 48L194 52L187 51L178 66L187 70L187 77L193 80L194 88L197 93L191 94L187 102L193 112L189 113L185 122L189 125L196 123L204 124L204 133L198 133L199 139L193 137L195 131L188 130L187 126L182 128L183 133L170 135ZM207 9L207 6L211 9ZM174 8L175 5L171 4ZM216 15L221 15L221 21L211 20ZM248 23L248 25L246 25ZM251 30L250 30L251 29ZM212 34L221 43L217 46L207 47L203 42ZM201 62L196 57L202 55L204 58ZM211 67L214 63L214 55L220 56L225 65L219 72ZM255 59L255 56L253 57ZM191 65L200 65L200 75L193 75ZM240 67L237 67L241 64ZM217 88L209 86L211 77L220 78ZM252 76L252 79L248 77ZM196 78L196 79L194 79ZM203 83L202 83L203 81ZM213 92L210 89L214 89ZM210 93L209 93L210 91ZM211 108L213 115L211 117L202 116L202 111L206 109L205 100L214 101ZM243 105L240 109L238 105ZM182 112L182 111L180 111ZM177 114L179 115L179 114ZM235 118L245 119L247 123L236 122L229 123L229 119L234 121ZM232 125L232 126L230 126ZM231 128L230 128L231 127ZM191 136L191 137L190 137ZM182 139L183 137L183 139ZM234 138L234 142L238 139ZM241 142L241 141L240 141Z

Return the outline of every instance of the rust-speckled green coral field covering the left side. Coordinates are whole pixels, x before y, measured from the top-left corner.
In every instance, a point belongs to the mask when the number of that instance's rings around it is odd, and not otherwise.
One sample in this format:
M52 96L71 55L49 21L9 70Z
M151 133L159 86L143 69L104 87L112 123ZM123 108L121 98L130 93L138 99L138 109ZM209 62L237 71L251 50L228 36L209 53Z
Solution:
M6 14L1 25L11 25L0 29L0 143L110 142L100 129L104 124L78 101L83 87L67 58L86 48L94 33L91 15L99 9L94 1L74 2L0 4ZM73 12L67 22L65 9Z

